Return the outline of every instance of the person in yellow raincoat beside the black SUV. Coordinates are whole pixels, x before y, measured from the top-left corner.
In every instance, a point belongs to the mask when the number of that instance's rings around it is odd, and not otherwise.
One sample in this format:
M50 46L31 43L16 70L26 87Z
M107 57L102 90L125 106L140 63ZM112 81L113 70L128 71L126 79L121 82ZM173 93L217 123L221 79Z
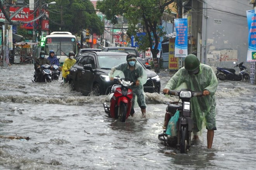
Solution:
M74 52L68 53L68 58L65 59L64 64L62 66L62 77L64 79L64 82L69 81L69 70L70 68L76 63L76 60L74 59Z

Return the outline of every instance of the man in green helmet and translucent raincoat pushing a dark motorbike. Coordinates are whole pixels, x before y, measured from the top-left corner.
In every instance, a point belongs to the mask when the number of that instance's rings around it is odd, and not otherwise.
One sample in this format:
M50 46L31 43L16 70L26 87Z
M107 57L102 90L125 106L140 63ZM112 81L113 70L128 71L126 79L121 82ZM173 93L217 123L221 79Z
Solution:
M198 58L189 54L185 58L185 67L178 70L163 89L163 93L178 88L183 82L192 91L202 91L203 97L191 98L192 118L194 122L194 139L199 139L197 132L201 131L205 122L207 131L207 148L213 144L214 130L216 130L216 101L215 92L218 80L213 69L205 64L200 64Z

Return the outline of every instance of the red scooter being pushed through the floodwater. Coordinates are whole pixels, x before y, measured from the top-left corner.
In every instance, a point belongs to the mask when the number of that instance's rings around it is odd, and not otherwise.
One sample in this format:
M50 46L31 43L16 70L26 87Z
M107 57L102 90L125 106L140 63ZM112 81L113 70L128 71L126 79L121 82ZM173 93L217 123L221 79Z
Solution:
M132 90L129 86L133 85L129 79L118 78L118 84L114 84L109 94L110 105L104 103L104 110L109 117L118 119L119 122L125 122L131 112Z

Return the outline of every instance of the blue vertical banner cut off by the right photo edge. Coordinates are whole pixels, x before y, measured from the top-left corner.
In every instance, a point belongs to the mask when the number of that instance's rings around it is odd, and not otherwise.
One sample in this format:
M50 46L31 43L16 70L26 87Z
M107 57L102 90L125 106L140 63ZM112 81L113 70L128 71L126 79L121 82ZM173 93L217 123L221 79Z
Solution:
M247 62L256 62L256 14L254 10L247 10L249 29Z

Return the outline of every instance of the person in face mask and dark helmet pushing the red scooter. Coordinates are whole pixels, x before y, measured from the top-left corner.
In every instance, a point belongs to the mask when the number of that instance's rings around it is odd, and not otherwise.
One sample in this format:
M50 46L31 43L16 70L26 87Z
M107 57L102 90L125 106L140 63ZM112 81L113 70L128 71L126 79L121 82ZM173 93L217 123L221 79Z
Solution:
M146 113L146 102L145 102L145 95L143 84L147 82L147 74L145 69L137 63L137 56L135 53L129 53L126 56L125 63L121 63L111 69L109 72L109 79L112 81L115 76L118 76L120 73L117 70L120 70L125 75L125 78L130 79L131 82L135 82L135 86L131 86L131 90L133 93L133 101L131 106L131 116L134 114L134 103L135 103L135 96L137 96L137 103L140 106L142 117L145 118Z

